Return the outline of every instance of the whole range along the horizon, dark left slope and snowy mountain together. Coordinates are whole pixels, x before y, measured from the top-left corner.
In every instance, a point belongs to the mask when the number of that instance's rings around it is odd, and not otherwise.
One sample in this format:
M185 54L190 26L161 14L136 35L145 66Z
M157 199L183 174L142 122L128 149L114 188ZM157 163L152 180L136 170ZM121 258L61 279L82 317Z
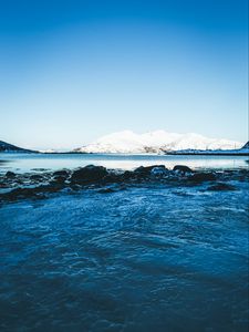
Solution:
M38 153L0 141L0 153ZM249 153L249 142L208 138L198 134L177 134L155 131L136 134L123 131L103 136L95 142L83 145L68 153L98 154L175 154L175 153ZM40 153L56 153L56 151L40 151Z

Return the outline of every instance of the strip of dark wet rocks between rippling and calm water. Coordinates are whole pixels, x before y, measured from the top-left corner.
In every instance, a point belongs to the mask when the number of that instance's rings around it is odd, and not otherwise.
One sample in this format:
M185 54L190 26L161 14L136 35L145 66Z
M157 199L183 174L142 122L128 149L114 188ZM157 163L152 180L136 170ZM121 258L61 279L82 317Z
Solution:
M94 165L74 170L7 172L0 176L0 204L27 198L42 199L58 191L74 193L90 188L107 194L128 186L196 186L199 190L237 190L239 188L235 183L248 179L248 169L200 172L184 165L176 165L173 169L164 165L141 166L125 172Z

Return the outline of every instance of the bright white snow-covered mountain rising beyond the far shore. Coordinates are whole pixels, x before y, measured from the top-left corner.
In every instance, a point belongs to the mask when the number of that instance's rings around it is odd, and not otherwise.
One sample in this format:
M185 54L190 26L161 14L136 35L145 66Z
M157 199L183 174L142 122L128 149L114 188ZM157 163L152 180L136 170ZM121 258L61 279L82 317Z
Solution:
M131 131L113 133L76 148L79 153L145 154L181 149L235 149L242 143L208 138L198 134L176 134L165 131L136 134Z

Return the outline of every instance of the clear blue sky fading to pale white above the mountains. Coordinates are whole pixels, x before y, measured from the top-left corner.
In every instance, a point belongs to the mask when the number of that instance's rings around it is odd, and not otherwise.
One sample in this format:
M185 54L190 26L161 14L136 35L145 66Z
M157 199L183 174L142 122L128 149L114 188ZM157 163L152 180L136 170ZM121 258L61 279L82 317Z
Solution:
M248 139L247 0L0 0L0 139Z

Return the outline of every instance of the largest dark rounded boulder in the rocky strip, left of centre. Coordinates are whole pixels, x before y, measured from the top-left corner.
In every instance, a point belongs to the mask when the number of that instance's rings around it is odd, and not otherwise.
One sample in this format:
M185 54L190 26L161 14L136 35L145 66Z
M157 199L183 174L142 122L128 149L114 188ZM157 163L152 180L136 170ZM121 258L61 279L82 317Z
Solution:
M71 180L80 184L95 183L103 179L107 174L106 168L103 166L89 165L74 170Z

